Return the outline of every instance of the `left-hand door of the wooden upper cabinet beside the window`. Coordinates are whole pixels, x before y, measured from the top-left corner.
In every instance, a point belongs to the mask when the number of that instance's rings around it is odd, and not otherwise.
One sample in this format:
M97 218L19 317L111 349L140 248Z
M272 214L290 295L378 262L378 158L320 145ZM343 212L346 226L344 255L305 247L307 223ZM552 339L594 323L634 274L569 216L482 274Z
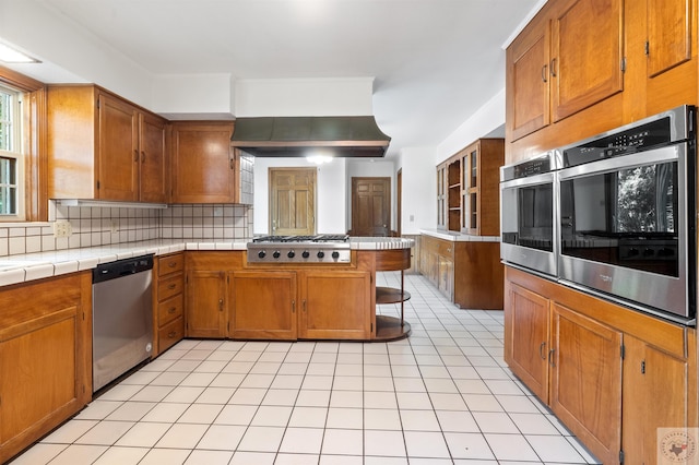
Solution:
M132 105L99 94L98 196L139 200L138 112Z

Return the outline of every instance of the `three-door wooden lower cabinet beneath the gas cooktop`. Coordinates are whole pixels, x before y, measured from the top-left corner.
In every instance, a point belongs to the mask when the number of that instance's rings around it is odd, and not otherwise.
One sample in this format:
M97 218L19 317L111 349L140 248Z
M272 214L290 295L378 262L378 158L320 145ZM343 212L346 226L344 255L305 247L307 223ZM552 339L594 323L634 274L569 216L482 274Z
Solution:
M343 267L248 267L244 252L188 253L186 335L370 339L376 331L375 286L365 263L370 260L353 260Z

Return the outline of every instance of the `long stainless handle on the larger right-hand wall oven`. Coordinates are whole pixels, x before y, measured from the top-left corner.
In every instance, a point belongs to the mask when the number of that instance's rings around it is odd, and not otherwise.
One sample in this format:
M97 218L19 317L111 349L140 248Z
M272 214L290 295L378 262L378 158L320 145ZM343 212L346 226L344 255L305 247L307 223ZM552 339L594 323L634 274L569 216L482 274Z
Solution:
M565 181L579 176L596 175L605 171L616 171L618 169L635 168L637 166L652 165L654 163L675 162L679 159L680 147L686 143L667 145L664 147L653 148L647 152L635 153L630 156L619 156L614 158L605 158L597 162L587 163L570 168L564 168L558 171L558 179ZM684 151L686 152L686 151Z

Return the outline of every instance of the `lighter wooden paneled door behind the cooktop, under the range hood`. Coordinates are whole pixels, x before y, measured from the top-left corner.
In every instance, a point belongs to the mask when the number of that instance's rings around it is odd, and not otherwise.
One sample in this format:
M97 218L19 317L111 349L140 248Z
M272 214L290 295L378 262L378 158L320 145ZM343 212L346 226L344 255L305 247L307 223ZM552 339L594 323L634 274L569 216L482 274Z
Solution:
M270 231L316 234L315 168L270 168Z

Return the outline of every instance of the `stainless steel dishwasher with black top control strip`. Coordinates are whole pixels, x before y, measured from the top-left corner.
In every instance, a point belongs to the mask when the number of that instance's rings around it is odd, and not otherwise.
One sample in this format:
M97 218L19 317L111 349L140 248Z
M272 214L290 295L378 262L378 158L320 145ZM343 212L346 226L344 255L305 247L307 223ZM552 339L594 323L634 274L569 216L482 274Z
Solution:
M93 270L93 392L151 357L152 269L150 254Z

